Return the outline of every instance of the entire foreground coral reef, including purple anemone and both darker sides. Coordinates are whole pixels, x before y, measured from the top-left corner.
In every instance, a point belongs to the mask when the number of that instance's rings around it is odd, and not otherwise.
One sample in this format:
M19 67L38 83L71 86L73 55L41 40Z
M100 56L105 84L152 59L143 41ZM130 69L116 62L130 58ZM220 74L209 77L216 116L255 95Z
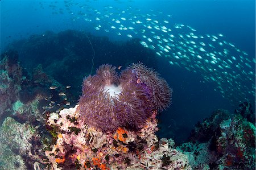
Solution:
M84 79L79 105L63 109L68 88L41 65L29 73L18 53L3 53L0 169L255 169L249 102L233 114L214 111L176 147L155 135L156 115L171 103L166 81L141 63L117 72L102 65Z

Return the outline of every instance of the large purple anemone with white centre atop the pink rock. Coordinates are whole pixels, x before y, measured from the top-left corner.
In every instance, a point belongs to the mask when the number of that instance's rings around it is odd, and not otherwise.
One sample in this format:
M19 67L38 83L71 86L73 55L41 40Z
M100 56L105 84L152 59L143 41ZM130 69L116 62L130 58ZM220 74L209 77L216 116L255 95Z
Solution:
M119 77L115 67L105 64L84 79L80 113L87 125L104 132L118 127L138 130L153 110L166 109L171 94L167 82L141 63L132 64Z

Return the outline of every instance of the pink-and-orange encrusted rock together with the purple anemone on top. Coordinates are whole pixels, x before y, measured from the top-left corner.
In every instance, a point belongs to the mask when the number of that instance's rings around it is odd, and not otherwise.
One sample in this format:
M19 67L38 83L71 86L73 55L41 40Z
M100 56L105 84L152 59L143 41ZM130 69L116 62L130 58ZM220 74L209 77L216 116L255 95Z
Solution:
M46 151L48 165L190 169L187 156L172 148L172 140L155 135L156 114L168 106L171 93L166 81L142 64L131 65L119 77L115 67L102 65L96 75L85 78L79 105L48 115L56 134L55 144Z

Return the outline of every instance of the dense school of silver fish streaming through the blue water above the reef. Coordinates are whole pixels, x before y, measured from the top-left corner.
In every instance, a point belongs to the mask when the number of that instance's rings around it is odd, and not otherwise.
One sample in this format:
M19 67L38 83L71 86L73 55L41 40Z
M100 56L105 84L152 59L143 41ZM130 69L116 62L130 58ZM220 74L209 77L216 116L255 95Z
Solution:
M50 5L53 13L69 14L73 21L82 20L106 35L139 38L143 47L166 57L173 67L201 74L203 82L214 82L214 90L231 102L255 98L255 56L227 42L221 33L200 34L191 26L173 23L171 14L153 9L114 5L96 9L90 1L63 3L63 8Z

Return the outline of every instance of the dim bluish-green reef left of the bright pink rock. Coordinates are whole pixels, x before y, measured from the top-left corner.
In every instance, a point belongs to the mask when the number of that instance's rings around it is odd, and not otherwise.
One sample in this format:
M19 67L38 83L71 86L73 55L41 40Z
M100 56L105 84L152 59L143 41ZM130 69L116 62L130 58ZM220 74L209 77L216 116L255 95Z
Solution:
M51 138L44 127L44 114L59 109L56 108L57 101L50 100L58 96L55 94L57 90L51 92L49 89L51 85L57 85L58 90L65 88L44 73L40 66L31 73L27 72L19 63L16 51L6 51L1 55L0 169L45 167L42 151L46 144L42 143L43 140L51 141ZM63 105L65 103L60 107Z

